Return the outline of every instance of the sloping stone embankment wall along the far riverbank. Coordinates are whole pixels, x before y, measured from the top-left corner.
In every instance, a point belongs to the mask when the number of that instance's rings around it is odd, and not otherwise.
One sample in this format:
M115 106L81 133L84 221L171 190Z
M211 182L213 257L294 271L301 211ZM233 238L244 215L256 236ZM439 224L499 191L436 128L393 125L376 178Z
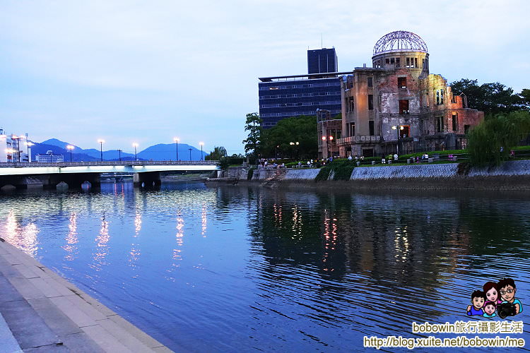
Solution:
M341 186L351 189L483 189L530 190L530 160L505 162L500 167L459 167L457 163L356 167L349 181L314 182L320 169L254 169L251 182L274 181L274 186ZM248 169L232 169L229 179L247 181ZM300 181L306 181L300 183Z

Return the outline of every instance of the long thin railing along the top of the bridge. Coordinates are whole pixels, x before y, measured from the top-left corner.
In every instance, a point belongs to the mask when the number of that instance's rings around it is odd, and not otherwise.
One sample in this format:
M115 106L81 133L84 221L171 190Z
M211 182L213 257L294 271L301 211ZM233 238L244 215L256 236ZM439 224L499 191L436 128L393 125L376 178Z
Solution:
M126 160L98 162L0 162L0 167L88 167L118 165L216 165L218 160Z

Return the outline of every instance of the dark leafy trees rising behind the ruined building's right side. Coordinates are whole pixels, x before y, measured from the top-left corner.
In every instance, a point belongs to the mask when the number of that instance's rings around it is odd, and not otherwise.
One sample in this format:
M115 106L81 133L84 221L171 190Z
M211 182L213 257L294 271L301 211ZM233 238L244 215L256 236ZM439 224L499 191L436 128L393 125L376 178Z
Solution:
M478 85L478 80L462 78L451 83L451 88L454 95L466 95L469 108L481 110L486 115L510 113L524 108L522 96L514 94L512 88L502 83Z

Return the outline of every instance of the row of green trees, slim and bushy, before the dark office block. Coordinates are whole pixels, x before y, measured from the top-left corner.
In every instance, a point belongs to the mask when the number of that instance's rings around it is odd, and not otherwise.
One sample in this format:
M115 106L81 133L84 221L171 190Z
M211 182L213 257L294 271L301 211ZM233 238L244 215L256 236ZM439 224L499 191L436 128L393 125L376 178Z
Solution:
M296 159L316 158L318 155L317 117L292 116L264 129L257 113L247 114L243 140L245 152L252 159L257 157L283 157Z

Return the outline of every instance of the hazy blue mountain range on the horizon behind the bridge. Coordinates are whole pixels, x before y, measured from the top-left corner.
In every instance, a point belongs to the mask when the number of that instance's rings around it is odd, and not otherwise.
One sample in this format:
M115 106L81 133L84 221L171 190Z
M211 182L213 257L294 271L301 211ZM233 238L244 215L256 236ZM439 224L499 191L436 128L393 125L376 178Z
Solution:
M67 145L73 145L67 143L57 138L50 138L49 140L42 141L42 143L35 143L31 149L32 160L35 160L35 155L41 154L44 155L48 150L52 150L54 154L64 155L64 160L70 160L70 151L66 149ZM76 145L73 145L75 148L72 150L72 160L74 162L90 162L98 161L101 158L101 151L95 148L87 148L83 150ZM191 155L190 155L191 149ZM202 152L202 157L208 155L206 152ZM103 160L119 160L120 153L118 150L104 150L103 151ZM134 160L133 153L121 152L122 160ZM201 159L201 150L194 148L193 146L187 145L186 143L179 143L179 160L200 160ZM153 145L141 150L138 152L139 160L176 160L177 159L177 150L175 148L175 143L159 143L158 145Z

